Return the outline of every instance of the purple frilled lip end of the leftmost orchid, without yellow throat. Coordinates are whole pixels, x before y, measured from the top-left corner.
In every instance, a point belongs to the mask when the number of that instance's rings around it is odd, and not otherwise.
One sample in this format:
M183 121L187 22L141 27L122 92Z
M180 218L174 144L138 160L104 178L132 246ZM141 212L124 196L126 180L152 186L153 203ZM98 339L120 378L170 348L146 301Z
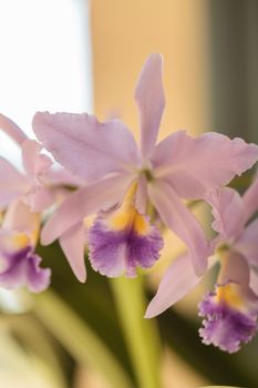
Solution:
M41 268L41 257L30 246L16 253L1 253L4 270L0 273L0 286L12 289L27 286L32 293L44 290L50 284L50 268Z

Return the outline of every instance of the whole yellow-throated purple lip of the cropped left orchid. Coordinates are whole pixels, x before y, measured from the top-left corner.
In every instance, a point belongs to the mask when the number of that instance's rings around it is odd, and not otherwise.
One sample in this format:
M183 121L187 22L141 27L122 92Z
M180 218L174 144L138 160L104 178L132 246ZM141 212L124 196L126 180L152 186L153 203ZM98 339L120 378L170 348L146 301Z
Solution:
M39 213L31 213L21 201L9 206L0 228L0 286L27 286L32 293L49 286L51 270L40 267L41 257L34 253L39 228Z

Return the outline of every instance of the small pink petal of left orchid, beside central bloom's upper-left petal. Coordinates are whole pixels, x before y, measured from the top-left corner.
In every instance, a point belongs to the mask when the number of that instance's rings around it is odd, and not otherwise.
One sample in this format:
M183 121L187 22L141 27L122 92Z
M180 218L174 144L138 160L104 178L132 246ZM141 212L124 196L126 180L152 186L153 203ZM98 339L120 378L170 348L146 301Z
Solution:
M22 143L22 161L27 174L33 178L43 174L52 165L49 156L41 154L42 146L34 140Z

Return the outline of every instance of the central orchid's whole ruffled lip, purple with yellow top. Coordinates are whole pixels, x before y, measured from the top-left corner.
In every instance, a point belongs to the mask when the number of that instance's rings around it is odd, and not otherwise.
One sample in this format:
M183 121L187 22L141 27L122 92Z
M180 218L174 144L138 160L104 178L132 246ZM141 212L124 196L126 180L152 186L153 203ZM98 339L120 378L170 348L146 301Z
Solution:
M112 226L114 222L122 227ZM146 216L135 210L127 214L118 210L96 217L89 232L89 248L92 267L102 275L117 277L125 273L134 277L137 267L149 268L159 258L163 238Z

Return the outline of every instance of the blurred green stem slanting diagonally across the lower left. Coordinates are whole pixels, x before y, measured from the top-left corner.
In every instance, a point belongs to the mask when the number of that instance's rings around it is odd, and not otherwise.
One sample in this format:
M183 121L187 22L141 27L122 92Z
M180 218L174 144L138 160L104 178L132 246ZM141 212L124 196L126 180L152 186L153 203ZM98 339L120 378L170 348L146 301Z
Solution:
M53 292L35 296L34 313L79 364L102 372L112 387L133 388L113 354Z

